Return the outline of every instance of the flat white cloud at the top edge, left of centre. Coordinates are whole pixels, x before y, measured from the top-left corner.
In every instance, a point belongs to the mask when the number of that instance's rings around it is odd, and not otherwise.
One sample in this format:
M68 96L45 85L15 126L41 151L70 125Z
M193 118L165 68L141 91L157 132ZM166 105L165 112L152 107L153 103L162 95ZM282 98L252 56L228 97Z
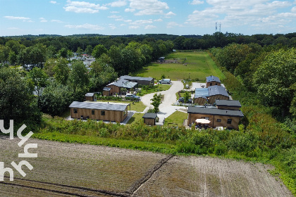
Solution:
M99 4L91 4L85 1L70 1L67 0L65 11L75 13L98 13L99 10L108 9L106 6L100 6Z

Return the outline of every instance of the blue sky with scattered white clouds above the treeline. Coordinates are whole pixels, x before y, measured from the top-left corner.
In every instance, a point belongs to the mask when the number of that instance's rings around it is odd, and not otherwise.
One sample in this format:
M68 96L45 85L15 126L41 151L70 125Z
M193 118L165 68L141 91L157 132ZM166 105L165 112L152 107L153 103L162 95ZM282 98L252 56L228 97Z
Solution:
M0 36L287 34L296 0L0 0Z

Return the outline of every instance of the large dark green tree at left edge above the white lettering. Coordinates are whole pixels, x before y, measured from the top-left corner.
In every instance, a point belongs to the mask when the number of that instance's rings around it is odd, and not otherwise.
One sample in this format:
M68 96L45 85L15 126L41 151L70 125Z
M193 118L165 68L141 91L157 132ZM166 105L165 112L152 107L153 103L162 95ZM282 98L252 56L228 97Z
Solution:
M39 124L41 113L32 94L34 86L11 68L0 68L0 120ZM28 126L27 125L27 126Z

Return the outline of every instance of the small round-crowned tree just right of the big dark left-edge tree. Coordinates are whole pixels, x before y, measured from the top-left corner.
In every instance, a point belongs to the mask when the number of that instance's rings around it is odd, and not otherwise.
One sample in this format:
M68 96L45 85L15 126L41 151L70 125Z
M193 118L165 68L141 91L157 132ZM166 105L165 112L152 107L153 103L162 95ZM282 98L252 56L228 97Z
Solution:
M47 85L47 80L49 76L41 68L33 68L30 72L27 72L28 79L32 80L37 95L40 96L42 87Z

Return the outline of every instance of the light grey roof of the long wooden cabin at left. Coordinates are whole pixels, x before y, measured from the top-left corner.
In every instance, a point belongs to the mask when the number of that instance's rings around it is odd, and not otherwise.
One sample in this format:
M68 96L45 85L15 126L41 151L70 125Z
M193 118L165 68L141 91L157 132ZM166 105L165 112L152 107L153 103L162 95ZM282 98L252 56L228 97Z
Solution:
M111 103L90 103L90 102L78 102L73 101L69 108L84 108L84 109L96 109L96 110L117 110L125 111L128 105L111 104Z

